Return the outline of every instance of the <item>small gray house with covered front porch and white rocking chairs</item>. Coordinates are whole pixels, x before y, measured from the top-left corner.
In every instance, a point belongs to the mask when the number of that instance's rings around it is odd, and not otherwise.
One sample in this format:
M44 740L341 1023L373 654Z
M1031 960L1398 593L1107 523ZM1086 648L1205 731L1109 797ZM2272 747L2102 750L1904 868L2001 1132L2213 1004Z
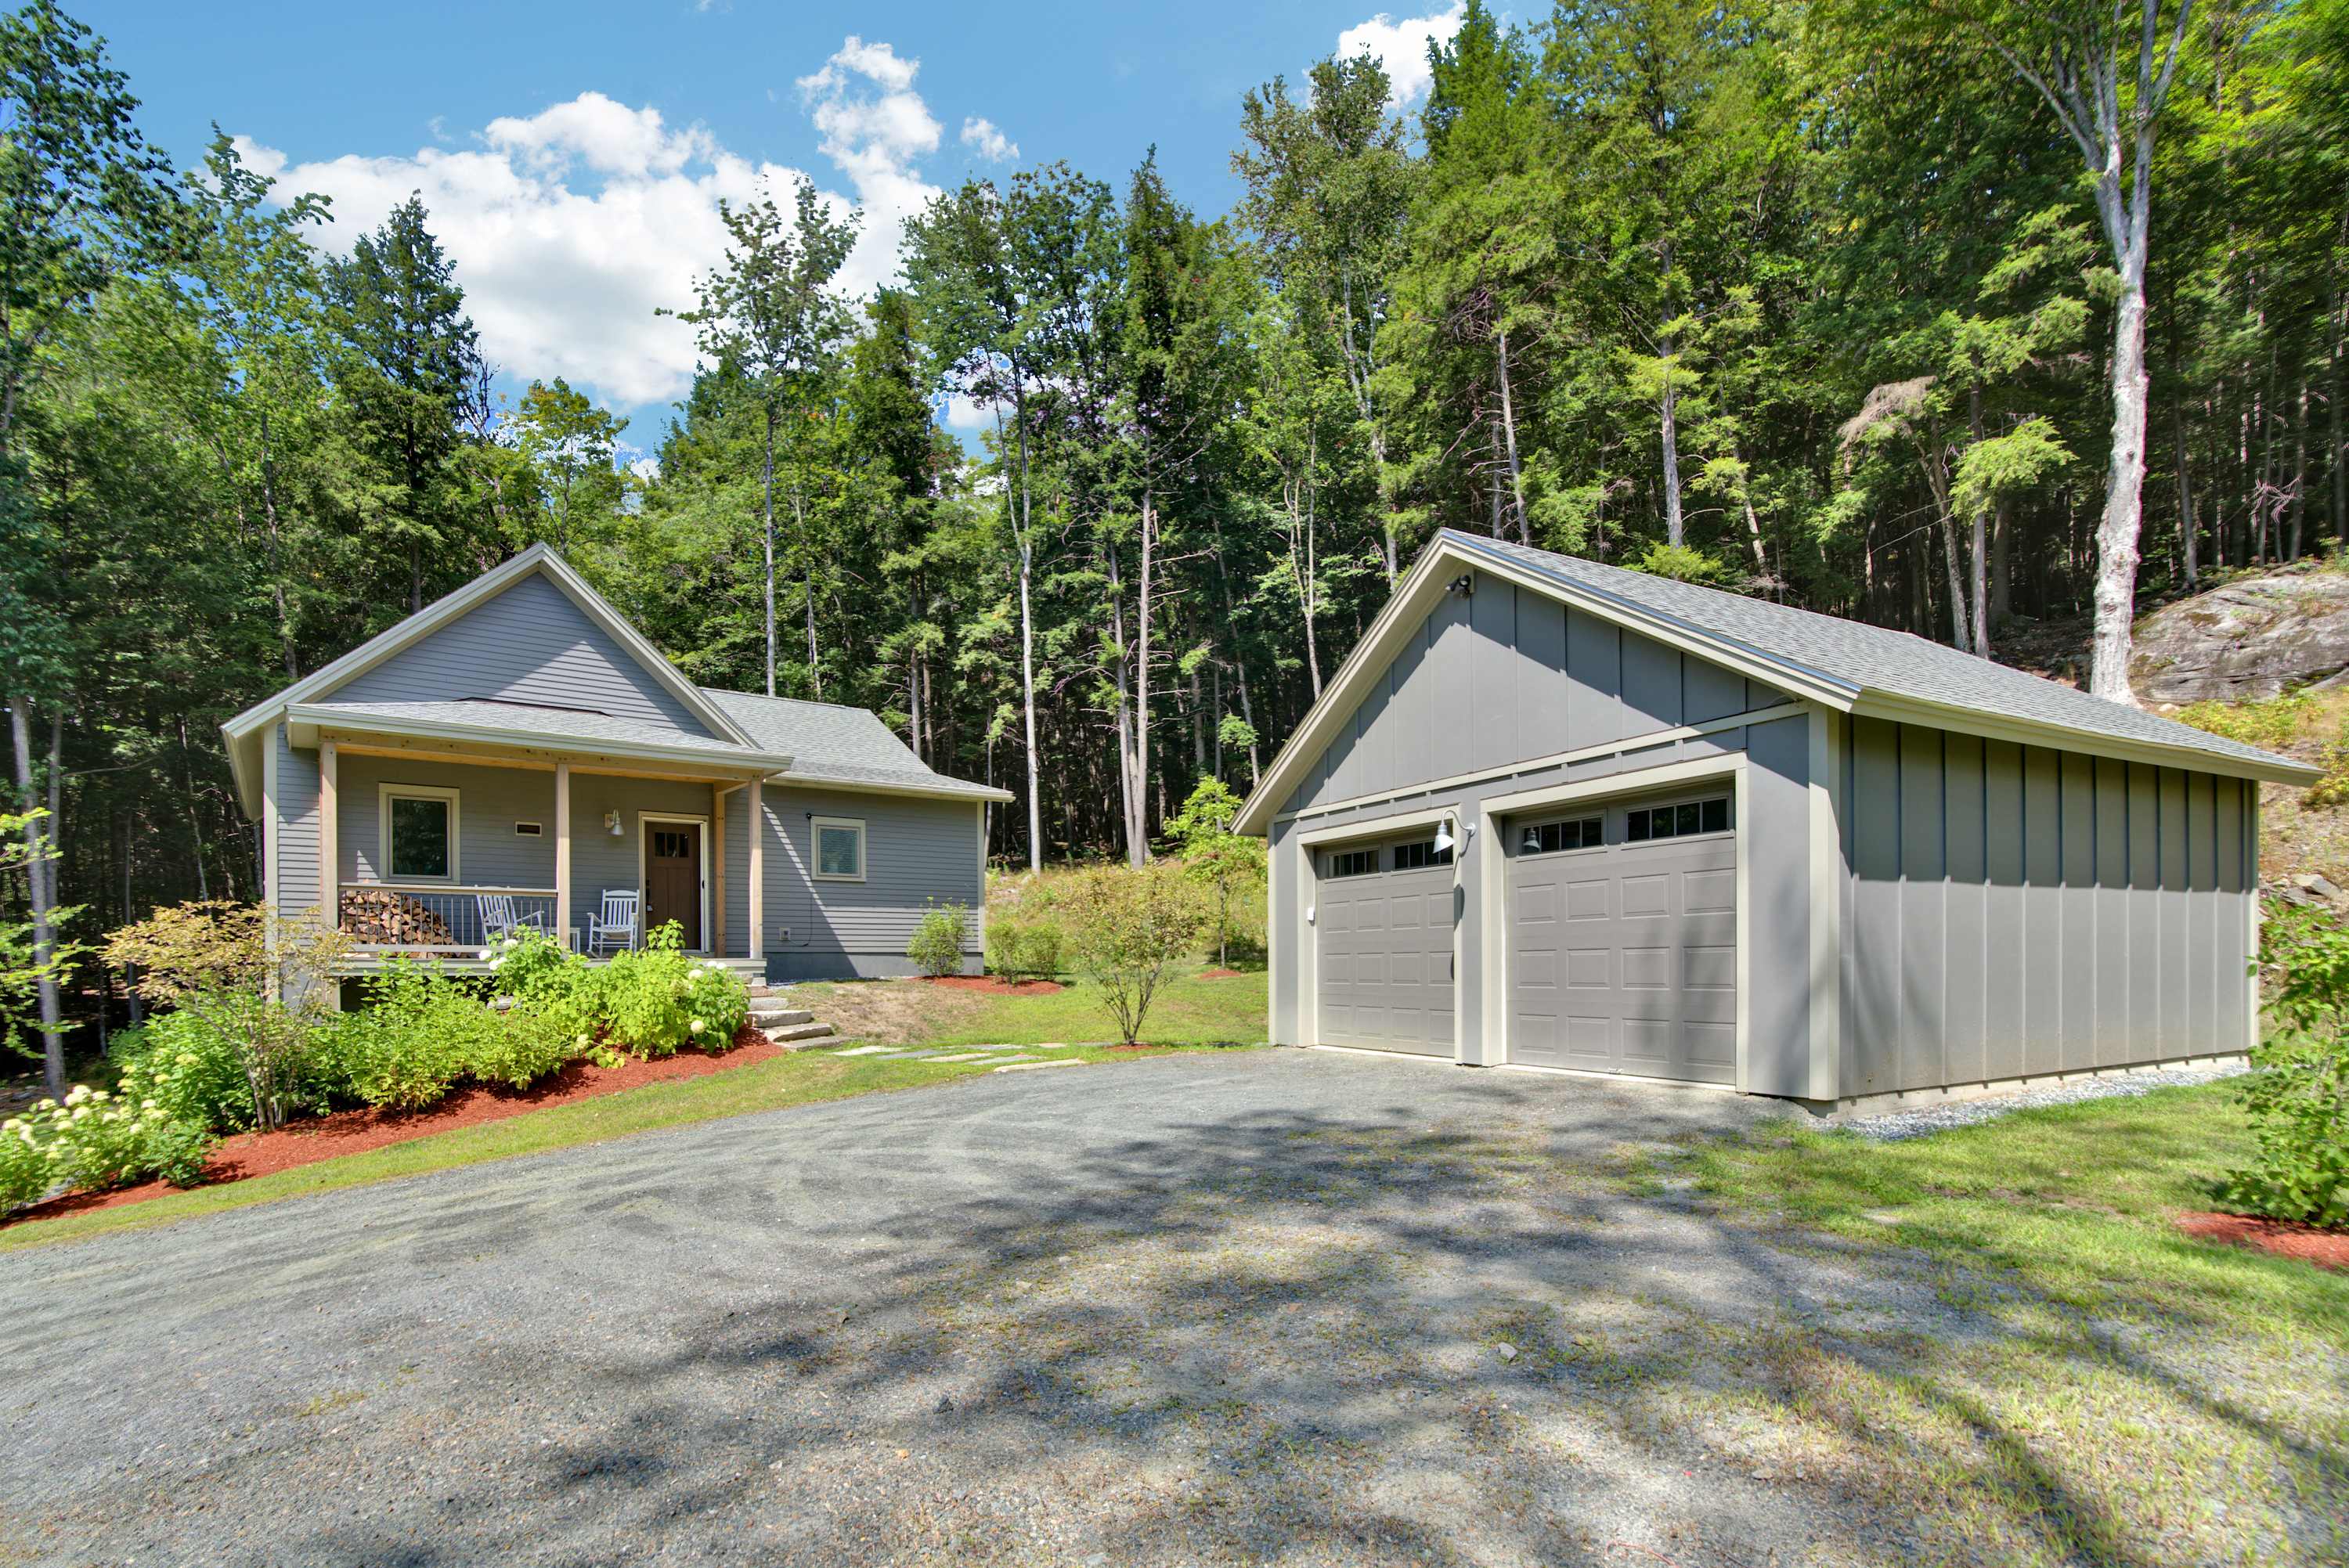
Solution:
M674 920L766 979L907 974L984 908L987 805L879 716L693 685L533 547L223 725L268 899L355 969L510 920L613 951ZM965 967L984 934L970 922Z

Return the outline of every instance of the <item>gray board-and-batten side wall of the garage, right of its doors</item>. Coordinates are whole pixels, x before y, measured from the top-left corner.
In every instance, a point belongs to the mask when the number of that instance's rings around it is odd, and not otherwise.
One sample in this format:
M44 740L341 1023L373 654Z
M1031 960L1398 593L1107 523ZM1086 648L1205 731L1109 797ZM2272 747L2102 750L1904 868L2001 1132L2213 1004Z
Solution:
M2257 784L1842 725L1844 1096L2250 1047Z

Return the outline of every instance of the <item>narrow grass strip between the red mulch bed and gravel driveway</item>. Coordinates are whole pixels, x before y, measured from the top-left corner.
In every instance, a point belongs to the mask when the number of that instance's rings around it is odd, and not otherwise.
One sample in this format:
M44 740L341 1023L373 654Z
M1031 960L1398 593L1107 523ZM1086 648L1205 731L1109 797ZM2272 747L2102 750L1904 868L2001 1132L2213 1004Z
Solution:
M1031 1038L1041 1040L1043 1035ZM1167 1052L1078 1049L1055 1054L1073 1056L1078 1061L1137 1061L1144 1056L1163 1056ZM709 1122L716 1117L749 1115L754 1110L782 1110L787 1106L813 1106L857 1094L926 1089L989 1073L994 1066L996 1063L989 1061L881 1061L871 1056L836 1056L832 1052L799 1052L747 1068L712 1073L707 1077L646 1084L641 1089L622 1089L590 1101L531 1110L503 1122L458 1127L430 1138L392 1143L388 1148L343 1155L338 1160L319 1160L317 1164L303 1164L270 1176L254 1176L251 1181L190 1188L186 1192L169 1192L139 1204L124 1204L120 1209L92 1209L85 1214L66 1214L54 1221L7 1225L0 1228L0 1251L45 1246L49 1242L78 1242L110 1230L169 1225L202 1214L223 1214L228 1209L247 1209L251 1204L268 1204L287 1197L310 1197L317 1192L336 1192L341 1188L362 1188L378 1181L397 1181L402 1176L451 1171L489 1160L510 1160L514 1155L543 1155L557 1148L606 1143L611 1138L658 1131L662 1127L681 1127L686 1122ZM1050 1077L1050 1073L1045 1073L1045 1077Z

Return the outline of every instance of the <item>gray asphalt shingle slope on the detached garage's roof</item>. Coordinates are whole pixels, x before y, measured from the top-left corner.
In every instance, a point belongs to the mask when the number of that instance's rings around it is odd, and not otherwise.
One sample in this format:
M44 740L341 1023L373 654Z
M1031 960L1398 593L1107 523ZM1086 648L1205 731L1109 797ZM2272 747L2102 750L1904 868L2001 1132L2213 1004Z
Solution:
M1816 610L1797 610L1766 599L1727 594L1621 566L1600 566L1581 556L1562 556L1454 528L1447 528L1442 538L1473 554L1581 587L1649 615L1661 615L1701 636L1724 638L1764 660L1799 664L1811 674L1849 685L1853 695L1882 692L1919 702L1945 702L2112 739L2178 746L2234 761L2300 765L2257 746L2182 725L2175 718L2161 718L2145 709L2091 697L2060 681L2046 681L2006 664L1978 660L1910 631L1870 627Z

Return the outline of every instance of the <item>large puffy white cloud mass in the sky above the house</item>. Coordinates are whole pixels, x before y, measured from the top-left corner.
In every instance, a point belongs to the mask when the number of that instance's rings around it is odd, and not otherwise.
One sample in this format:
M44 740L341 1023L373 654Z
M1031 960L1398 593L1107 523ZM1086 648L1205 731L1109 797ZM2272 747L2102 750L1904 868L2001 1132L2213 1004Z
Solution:
M886 42L850 38L799 80L822 153L850 188L824 200L834 211L864 211L839 279L850 293L895 277L907 216L937 195L918 171L942 136L914 92L918 68ZM723 261L719 200L789 202L799 171L740 157L700 124L672 127L651 106L599 92L491 120L467 141L317 162L294 162L249 136L237 148L280 181L280 195L334 197L322 242L338 251L411 190L423 195L482 352L500 371L564 376L620 406L681 397L693 385L693 329L653 310L691 307L693 279Z

